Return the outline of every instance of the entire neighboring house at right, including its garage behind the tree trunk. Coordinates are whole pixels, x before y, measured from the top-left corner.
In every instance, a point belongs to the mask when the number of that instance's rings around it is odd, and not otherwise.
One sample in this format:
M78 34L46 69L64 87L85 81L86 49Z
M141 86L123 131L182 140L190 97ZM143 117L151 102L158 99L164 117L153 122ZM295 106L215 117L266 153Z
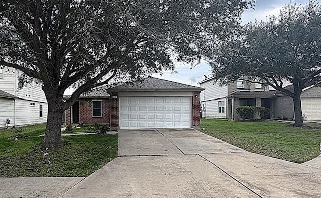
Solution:
M198 83L204 88L200 94L202 117L239 119L239 106L262 106L270 109L266 118L294 118L294 105L290 96L269 86L237 80L230 85L219 85L213 77ZM293 91L293 86L285 87ZM302 113L309 120L321 120L321 88L308 87L301 95Z

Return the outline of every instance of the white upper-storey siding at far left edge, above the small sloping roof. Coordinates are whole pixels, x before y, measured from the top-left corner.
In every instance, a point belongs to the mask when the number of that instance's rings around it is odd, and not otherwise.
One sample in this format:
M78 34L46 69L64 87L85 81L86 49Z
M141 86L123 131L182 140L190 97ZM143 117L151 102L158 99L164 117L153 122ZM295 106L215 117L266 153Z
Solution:
M16 95L16 69L4 68L4 79L0 80L0 90L10 93L12 95Z

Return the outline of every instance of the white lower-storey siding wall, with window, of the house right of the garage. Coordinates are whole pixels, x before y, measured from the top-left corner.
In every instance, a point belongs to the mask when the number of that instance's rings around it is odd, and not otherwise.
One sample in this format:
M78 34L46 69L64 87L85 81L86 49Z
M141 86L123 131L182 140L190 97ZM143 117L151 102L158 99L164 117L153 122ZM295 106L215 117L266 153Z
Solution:
M219 101L225 101L224 113L219 113ZM203 118L226 118L227 100L225 98L201 102Z

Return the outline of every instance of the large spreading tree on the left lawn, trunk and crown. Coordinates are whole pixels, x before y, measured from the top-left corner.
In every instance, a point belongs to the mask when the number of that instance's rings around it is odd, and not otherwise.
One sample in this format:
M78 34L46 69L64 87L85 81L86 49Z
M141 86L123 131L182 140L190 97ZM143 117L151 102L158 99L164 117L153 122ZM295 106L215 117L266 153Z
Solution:
M20 85L42 85L48 101L43 145L61 144L64 110L80 94L116 78L199 61L209 41L240 23L247 0L0 1L0 66L21 70ZM174 57L174 58L173 58ZM67 101L64 91L76 90Z

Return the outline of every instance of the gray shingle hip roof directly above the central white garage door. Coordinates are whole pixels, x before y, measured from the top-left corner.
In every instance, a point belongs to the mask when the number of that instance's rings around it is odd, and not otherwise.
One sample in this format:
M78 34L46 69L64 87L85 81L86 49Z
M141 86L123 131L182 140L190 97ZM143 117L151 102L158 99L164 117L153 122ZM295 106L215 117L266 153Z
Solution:
M169 91L202 91L203 88L172 82L154 77L145 78L142 82L124 83L113 87L110 91L135 91L135 90L169 90Z

